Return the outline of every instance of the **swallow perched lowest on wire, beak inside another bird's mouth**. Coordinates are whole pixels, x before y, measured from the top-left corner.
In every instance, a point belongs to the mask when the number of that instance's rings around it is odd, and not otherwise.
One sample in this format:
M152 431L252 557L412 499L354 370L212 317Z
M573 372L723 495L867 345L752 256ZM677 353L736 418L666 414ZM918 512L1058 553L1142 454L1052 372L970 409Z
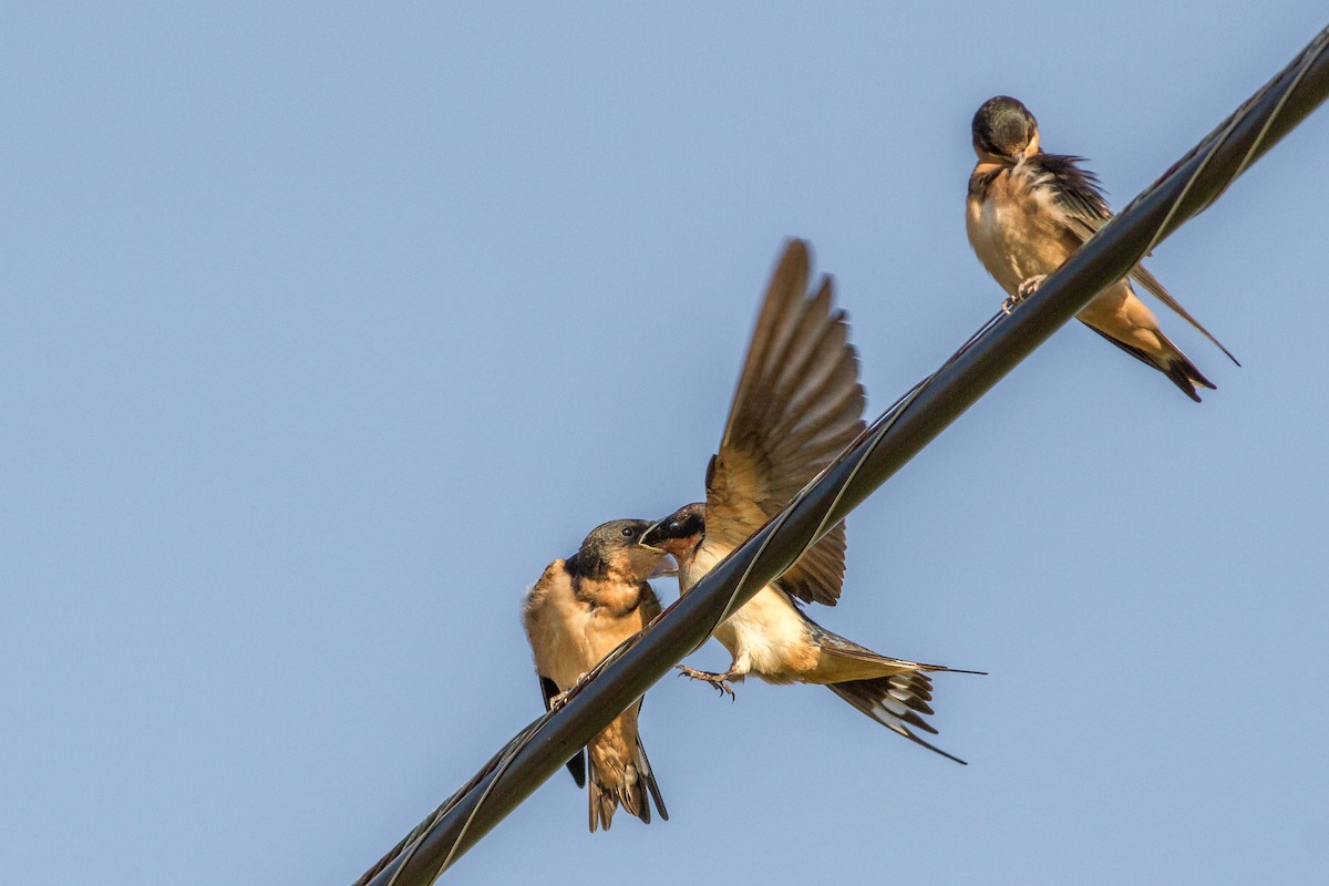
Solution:
M646 580L664 551L641 545L647 523L615 519L597 526L567 559L556 559L526 594L522 624L536 656L536 673L545 695L545 708L562 703L582 675L599 664L625 640L645 628L661 612L655 591ZM577 786L586 784L590 758L590 829L609 825L622 805L643 822L651 821L655 801L661 818L668 812L637 719L638 699L567 761Z

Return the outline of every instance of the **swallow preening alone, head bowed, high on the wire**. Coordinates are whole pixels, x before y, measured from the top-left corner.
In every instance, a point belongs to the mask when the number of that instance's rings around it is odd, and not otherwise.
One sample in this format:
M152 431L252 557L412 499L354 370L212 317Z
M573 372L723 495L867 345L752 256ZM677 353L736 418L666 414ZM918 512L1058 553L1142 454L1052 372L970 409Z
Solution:
M965 228L978 260L1010 296L1003 306L1009 313L1103 227L1112 211L1098 178L1079 166L1084 158L1043 153L1038 121L1014 98L997 96L983 102L974 114L973 141L978 163L969 177ZM1199 402L1195 387L1216 385L1163 335L1158 317L1131 288L1131 279L1237 363L1143 264L1090 302L1079 319Z

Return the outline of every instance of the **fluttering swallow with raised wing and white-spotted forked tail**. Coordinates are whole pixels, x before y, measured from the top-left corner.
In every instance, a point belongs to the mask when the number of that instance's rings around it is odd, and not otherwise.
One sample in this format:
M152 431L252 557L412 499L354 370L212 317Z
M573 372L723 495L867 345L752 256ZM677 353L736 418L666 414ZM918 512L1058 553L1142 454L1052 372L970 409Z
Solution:
M720 450L706 472L706 502L686 505L647 531L643 543L678 561L683 594L784 507L864 429L864 393L831 280L811 298L808 251L791 240L771 280L739 377ZM825 630L796 600L835 606L844 580L844 523L780 579L715 628L734 656L724 673L682 667L728 692L754 673L767 683L816 683L877 723L937 753L910 727L937 731L926 671L949 671L877 655Z

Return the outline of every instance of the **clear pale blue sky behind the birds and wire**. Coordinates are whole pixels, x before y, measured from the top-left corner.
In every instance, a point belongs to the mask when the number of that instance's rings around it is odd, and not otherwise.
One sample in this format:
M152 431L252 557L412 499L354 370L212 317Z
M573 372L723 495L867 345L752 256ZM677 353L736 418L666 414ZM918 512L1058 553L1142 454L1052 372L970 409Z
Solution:
M538 713L544 566L699 497L784 236L881 409L1002 298L962 222L985 98L1120 206L1322 19L7 5L7 877L351 882ZM936 681L970 766L816 687L667 677L670 822L590 836L560 774L449 879L1322 877L1326 139L1156 250L1244 364L1162 316L1203 405L1069 327L849 521L815 615L989 671Z

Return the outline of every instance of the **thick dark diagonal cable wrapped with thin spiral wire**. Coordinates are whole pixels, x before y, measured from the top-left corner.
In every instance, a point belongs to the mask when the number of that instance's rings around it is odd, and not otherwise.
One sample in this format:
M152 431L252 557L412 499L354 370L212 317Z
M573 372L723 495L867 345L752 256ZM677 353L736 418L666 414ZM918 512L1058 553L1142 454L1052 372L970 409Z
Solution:
M1103 288L1204 211L1329 97L1329 28L1088 240L1018 310L995 315L882 413L760 531L513 737L355 886L427 886L554 774L574 751L706 642Z

